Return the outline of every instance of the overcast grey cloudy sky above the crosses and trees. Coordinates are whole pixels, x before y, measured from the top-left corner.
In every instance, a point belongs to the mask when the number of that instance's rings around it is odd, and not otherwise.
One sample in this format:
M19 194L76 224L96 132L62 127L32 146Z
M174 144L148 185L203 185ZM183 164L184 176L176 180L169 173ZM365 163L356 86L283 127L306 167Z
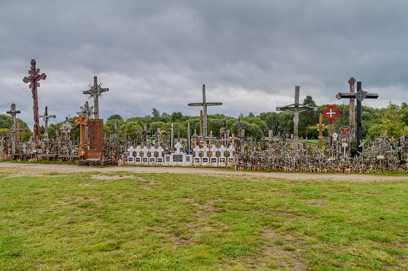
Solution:
M14 1L0 3L0 113L11 103L33 125L31 59L47 75L39 113L61 122L80 111L97 76L109 92L101 118L199 115L188 103L222 102L209 114L275 111L311 95L341 103L350 77L386 107L408 102L408 2ZM348 104L348 101L344 101ZM42 119L40 125L42 125ZM32 129L32 128L31 128Z

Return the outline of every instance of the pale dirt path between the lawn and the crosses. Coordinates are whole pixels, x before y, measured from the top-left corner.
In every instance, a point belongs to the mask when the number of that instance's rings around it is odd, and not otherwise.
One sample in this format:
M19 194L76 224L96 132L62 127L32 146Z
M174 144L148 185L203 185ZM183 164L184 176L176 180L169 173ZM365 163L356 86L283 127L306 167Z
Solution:
M12 175L36 175L50 172L73 173L98 171L100 173L114 173L128 171L135 173L191 173L205 175L229 175L229 176L262 176L266 178L285 179L315 179L315 180L350 180L356 182L369 182L372 180L408 180L407 176L385 176L367 174L311 174L311 173L282 173L282 172L249 172L233 171L212 168L189 168L189 167L145 167L145 166L114 166L114 167L79 167L66 164L24 164L14 162L0 163L0 171L15 171Z

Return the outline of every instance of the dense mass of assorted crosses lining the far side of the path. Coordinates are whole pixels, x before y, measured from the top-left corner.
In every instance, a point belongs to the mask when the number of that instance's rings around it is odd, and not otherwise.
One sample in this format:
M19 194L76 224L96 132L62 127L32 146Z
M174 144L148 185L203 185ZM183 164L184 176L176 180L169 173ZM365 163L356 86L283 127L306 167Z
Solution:
M222 103L206 101L205 85L202 85L202 101L186 102L186 106L200 109L199 119L191 120L191 124L187 122L181 126L177 123L175 129L173 123L167 125L162 122L156 129L149 130L147 124L144 124L144 127L126 132L118 128L117 121L110 120L107 122L114 125L104 132L104 120L99 118L98 99L103 94L109 95L109 88L101 87L96 76L89 89L83 92L86 98L93 101L93 105L86 102L79 112L73 114L78 117L66 117L65 122L54 125L53 131L49 131L51 126L48 127L48 121L56 115L48 115L47 107L43 115L38 113L39 81L46 79L46 75L39 71L33 59L29 76L23 78L24 83L30 83L28 86L34 100L33 134L29 140L22 142L20 134L27 128L20 128L20 119L16 117L20 110L16 110L16 104L11 104L7 111L11 128L0 137L1 160L292 172L406 172L408 169L407 136L394 138L388 136L385 130L373 140L363 139L362 103L376 99L378 95L363 91L362 83L356 82L354 78L348 80L349 92L336 95L340 100L350 101L347 125L339 127L333 124L339 120L338 105L326 105L321 112L317 112L317 106L299 103L300 87L296 86L294 103L276 107L276 111L290 115L293 127L280 127L278 117L275 116L273 125L262 129L262 137L254 137L245 134L245 129L251 127L248 121L243 121L245 117L238 118L235 123L228 120L230 127L226 119L220 119L219 131L218 128L216 131L211 129L213 126L211 119L208 119L207 107L214 106L211 108L214 110ZM299 122L302 122L302 118L310 117L311 113L317 115L318 123L306 127L306 134L315 133L318 142L311 141L307 136L299 136L305 133L302 131L304 128L299 130ZM44 122L41 127L40 118ZM76 137L73 136L74 131Z

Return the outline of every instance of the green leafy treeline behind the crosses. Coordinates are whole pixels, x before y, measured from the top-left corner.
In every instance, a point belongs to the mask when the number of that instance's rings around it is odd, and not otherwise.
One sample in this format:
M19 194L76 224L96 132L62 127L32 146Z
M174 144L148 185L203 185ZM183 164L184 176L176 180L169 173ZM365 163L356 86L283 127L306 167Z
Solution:
M311 96L307 96L303 104L309 106L317 106ZM319 123L319 115L323 112L325 105L319 105L317 111L307 111L299 114L299 136L308 138L318 138L318 131L307 129L309 126L316 126ZM328 110L325 108L326 111ZM337 105L334 110L339 109L339 118L336 122L332 122L335 127L335 131L338 131L342 126L349 126L349 105ZM245 135L253 136L256 139L261 139L263 136L268 136L268 132L264 129L273 128L275 126L275 117L277 117L278 126L281 128L289 128L288 134L293 133L293 113L291 112L262 112L259 115L254 115L249 112L247 115L241 113L241 123L245 125ZM327 117L326 117L327 118ZM336 117L337 118L337 117ZM74 127L73 122L78 117L73 117L70 119L72 127ZM104 124L104 133L109 137L109 131L113 131L115 127L115 122L117 122L117 129L120 131L125 131L127 136L133 139L137 138L137 133L135 130L143 130L144 126L147 126L147 130L155 130L158 128L162 132L171 130L171 125L173 124L174 136L177 137L177 132L180 133L181 138L187 136L187 127L190 123L190 128L192 133L199 134L199 115L188 116L183 115L181 112L173 112L167 114L165 112L160 113L156 108L152 109L151 115L146 115L144 117L131 117L125 120L118 115L110 116ZM223 114L212 114L208 115L208 134L213 131L213 136L219 137L219 130L221 128L221 122L225 119L227 127L230 129L230 135L237 135L237 128L234 127L238 123L238 116L225 116ZM64 122L61 122L61 127ZM326 125L329 122L324 122ZM405 124L408 124L408 104L403 102L401 105L390 104L386 108L374 109L372 107L362 106L362 124L363 124L363 137L366 139L374 139L379 136L385 130L388 131L389 136L394 136L394 138L399 138L408 129ZM28 128L27 124L23 121L20 122L20 127ZM10 129L10 116L0 115L0 132ZM54 138L55 131L57 129L57 124L50 124L48 126L48 137ZM43 137L45 128L42 125L40 129L41 136ZM327 134L325 131L324 134ZM119 133L121 136L122 133ZM21 140L27 141L30 136L32 136L31 130L21 132ZM77 139L79 136L79 129L73 128L71 130L71 137Z

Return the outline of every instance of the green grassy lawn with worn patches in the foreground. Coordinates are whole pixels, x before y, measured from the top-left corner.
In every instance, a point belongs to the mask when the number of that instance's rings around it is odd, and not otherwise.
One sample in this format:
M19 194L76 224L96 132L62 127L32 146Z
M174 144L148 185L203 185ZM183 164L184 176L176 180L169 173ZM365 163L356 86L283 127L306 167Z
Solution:
M1 270L408 269L405 181L8 174Z

